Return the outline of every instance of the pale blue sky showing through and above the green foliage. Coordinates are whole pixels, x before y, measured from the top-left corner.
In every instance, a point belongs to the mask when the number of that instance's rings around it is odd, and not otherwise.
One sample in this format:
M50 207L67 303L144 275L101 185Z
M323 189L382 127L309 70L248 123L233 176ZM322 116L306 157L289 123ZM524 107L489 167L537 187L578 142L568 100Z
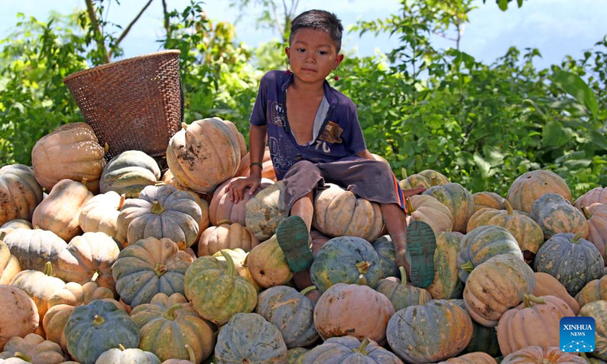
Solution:
M183 9L189 0L166 0L169 10ZM0 39L10 34L21 12L46 20L50 10L59 13L72 12L77 7L85 7L84 0L0 0ZM112 21L126 27L147 0L121 0L120 5L112 3L109 16ZM255 1L251 1L254 3ZM515 1L513 1L515 3ZM607 35L607 0L527 0L522 8L510 5L506 12L488 0L476 2L475 10L469 13L460 49L476 59L490 63L504 55L510 46L519 49L536 47L543 58L536 59L537 67L549 67L560 63L565 55L580 58L585 50ZM344 25L355 24L359 19L370 21L399 11L398 0L301 0L297 10L303 12L311 8L321 8L335 12ZM229 7L228 0L208 0L203 9L209 18L234 21L240 9ZM236 24L237 39L255 46L278 36L275 30L256 29L255 19L260 8L249 5L246 15ZM158 50L155 41L163 36L162 5L160 0L152 4L134 25L129 35L121 43L123 58L137 56ZM389 52L398 45L396 37L367 33L359 37L355 33L344 36L344 50L356 50L359 55L373 55L377 50ZM455 47L455 42L433 37L433 45L447 49ZM0 45L1 47L1 45Z

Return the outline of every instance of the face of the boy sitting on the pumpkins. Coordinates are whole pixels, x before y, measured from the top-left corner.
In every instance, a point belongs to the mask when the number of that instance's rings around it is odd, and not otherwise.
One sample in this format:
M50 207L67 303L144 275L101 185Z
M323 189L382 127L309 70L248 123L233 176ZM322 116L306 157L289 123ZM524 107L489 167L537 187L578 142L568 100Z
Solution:
M285 52L291 70L305 83L324 81L331 70L336 69L344 59L344 55L336 54L331 36L322 30L299 29L290 45Z

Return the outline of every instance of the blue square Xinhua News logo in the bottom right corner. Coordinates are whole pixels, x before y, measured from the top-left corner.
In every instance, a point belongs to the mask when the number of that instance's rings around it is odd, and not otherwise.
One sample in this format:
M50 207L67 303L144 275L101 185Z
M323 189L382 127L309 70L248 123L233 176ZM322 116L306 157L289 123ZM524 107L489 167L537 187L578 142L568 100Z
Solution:
M563 317L559 325L560 348L562 351L594 351L594 318Z

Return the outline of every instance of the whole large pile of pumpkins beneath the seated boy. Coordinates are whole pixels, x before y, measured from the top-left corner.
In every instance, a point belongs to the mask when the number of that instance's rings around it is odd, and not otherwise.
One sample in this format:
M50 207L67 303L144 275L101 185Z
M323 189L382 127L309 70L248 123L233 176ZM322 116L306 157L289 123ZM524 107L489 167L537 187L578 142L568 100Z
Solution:
M437 240L434 281L418 288L379 205L335 185L316 195L313 264L292 272L269 152L260 189L226 195L250 163L230 121L184 124L164 173L106 150L67 124L32 167L0 169L0 363L585 363L558 348L575 315L596 322L588 360L607 360L600 187L574 202L534 170L502 198L403 173L402 188L427 187L407 218Z

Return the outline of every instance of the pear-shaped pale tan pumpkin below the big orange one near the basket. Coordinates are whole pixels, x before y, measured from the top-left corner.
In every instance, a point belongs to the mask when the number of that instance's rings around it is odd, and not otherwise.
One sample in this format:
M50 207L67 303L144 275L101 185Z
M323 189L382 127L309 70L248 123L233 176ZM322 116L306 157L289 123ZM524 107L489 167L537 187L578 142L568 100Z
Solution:
M57 234L63 240L80 235L78 224L80 210L93 194L86 187L86 180L75 182L61 180L34 211L32 223L41 229Z

